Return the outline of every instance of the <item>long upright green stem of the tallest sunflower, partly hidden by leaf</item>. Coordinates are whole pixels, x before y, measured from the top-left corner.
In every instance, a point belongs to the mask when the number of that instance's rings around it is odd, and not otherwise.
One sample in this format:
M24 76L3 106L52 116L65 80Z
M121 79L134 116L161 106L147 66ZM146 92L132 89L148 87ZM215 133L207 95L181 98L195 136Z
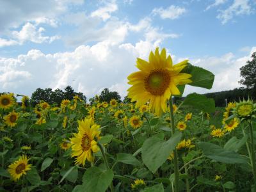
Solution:
M169 107L170 107L170 118L171 118L171 127L172 127L172 135L175 133L175 125L174 125L174 115L173 115L173 103L172 97L169 99ZM173 163L174 163L174 186L175 192L179 191L179 164L178 164L178 154L177 149L173 150Z

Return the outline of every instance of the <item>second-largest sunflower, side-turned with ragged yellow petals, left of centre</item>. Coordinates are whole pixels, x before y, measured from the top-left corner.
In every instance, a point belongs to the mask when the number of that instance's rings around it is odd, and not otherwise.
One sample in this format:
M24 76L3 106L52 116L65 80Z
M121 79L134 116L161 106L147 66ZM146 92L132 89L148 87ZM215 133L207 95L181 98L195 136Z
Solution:
M100 139L100 125L94 124L93 119L78 120L78 132L71 138L72 157L76 157L76 164L85 164L86 159L93 161L92 152L99 151L97 141Z

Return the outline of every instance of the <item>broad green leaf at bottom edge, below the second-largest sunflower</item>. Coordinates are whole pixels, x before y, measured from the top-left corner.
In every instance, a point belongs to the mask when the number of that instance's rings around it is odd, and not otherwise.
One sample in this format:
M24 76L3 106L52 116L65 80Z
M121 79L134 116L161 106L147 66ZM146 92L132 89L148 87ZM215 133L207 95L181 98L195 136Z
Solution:
M88 192L104 192L114 177L112 170L100 170L96 166L88 168L83 175L83 189Z

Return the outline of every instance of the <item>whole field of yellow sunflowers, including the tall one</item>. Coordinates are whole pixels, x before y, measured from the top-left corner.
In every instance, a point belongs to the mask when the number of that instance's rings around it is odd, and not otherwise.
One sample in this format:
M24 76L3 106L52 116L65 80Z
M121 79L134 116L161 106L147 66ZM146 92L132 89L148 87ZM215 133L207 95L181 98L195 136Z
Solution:
M0 191L256 191L256 104L173 102L186 84L211 89L214 74L165 49L136 67L129 102L1 94Z

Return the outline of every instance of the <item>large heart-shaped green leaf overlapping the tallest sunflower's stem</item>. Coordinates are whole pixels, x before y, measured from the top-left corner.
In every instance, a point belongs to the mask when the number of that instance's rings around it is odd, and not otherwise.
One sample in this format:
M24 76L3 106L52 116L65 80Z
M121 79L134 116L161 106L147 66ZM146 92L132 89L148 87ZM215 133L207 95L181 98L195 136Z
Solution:
M180 132L176 132L172 138L165 141L163 138L159 138L159 135L160 134L157 134L148 138L142 145L142 160L153 173L155 173L159 166L170 156L182 136Z

